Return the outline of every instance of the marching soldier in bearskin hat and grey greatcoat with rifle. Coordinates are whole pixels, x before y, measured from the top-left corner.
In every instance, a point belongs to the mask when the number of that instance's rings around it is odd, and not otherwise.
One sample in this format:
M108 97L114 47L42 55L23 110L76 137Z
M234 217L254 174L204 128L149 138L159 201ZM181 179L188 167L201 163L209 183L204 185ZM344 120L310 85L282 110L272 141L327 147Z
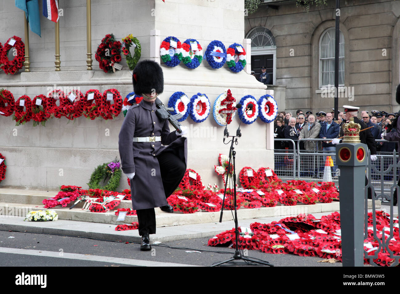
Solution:
M138 214L140 250L151 250L149 234L156 233L155 207L174 212L166 198L178 187L186 170L187 133L170 132L168 120L156 115L156 100L164 89L161 66L139 62L133 71L134 92L143 100L132 105L122 123L118 146L122 171L130 178L132 208ZM166 145L169 145L166 147Z

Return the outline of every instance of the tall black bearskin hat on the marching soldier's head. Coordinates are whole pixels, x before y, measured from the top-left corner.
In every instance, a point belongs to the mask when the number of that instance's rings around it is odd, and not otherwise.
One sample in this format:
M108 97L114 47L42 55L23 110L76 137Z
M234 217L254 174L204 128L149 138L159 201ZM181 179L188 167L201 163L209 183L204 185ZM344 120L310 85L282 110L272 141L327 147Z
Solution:
M133 90L135 94L161 94L164 90L164 75L160 64L154 60L143 60L136 64L133 70Z

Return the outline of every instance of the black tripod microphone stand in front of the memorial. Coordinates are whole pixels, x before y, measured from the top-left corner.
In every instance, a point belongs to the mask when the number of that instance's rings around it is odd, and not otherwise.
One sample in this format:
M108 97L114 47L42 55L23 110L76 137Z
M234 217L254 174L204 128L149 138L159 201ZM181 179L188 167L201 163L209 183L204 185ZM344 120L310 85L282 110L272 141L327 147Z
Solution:
M246 113L247 113L247 108L246 108ZM242 123L243 120L243 116L240 120L240 123ZM255 262L257 264L262 264L262 265L266 265L266 266L274 266L273 264L270 264L268 261L262 261L262 260L256 260L254 258L251 257L245 257L240 253L240 245L239 245L239 225L238 225L238 214L237 214L237 209L236 209L236 166L235 166L235 158L236 158L236 151L234 150L234 146L233 143L235 143L236 145L238 144L238 137L241 137L242 134L240 133L240 123L239 123L239 127L236 130L236 136L229 136L228 133L228 128L227 126L225 127L225 131L224 131L224 144L229 144L225 143L225 138L226 137L231 137L232 140L230 140L230 149L229 149L229 162L228 162L228 172L226 174L226 182L225 182L225 190L224 190L224 198L222 199L222 208L221 208L221 214L220 214L220 222L222 222L222 213L224 210L224 202L225 202L225 195L226 195L226 188L228 186L228 174L230 174L230 164L232 162L232 170L233 170L233 205L234 205L234 210L235 210L235 216L234 216L234 222L235 222L235 253L233 255L232 258L225 260L223 262L219 262L217 264L214 264L212 266L219 266L221 264L227 263L227 262L231 262L233 260L244 260L245 262ZM232 160L233 159L233 160ZM230 184L231 184L232 180L229 180ZM232 194L232 186L230 188L230 194ZM232 206L231 206L232 209Z

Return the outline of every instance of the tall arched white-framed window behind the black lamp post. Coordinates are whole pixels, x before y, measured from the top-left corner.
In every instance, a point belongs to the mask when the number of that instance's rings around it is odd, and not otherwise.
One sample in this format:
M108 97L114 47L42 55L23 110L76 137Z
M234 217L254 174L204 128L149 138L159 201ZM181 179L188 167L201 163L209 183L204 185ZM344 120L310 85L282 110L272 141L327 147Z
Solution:
M335 28L328 28L320 38L320 88L335 84ZM339 31L339 86L344 86L344 37Z

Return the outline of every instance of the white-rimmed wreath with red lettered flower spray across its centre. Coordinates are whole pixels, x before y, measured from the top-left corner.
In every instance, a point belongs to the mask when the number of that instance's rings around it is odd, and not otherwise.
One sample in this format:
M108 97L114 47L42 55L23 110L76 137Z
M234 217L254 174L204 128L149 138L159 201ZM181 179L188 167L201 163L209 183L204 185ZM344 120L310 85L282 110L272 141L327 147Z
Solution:
M235 116L236 107L234 103L236 99L232 96L230 90L220 94L214 102L212 114L214 120L220 126L226 126L232 122L232 118Z

